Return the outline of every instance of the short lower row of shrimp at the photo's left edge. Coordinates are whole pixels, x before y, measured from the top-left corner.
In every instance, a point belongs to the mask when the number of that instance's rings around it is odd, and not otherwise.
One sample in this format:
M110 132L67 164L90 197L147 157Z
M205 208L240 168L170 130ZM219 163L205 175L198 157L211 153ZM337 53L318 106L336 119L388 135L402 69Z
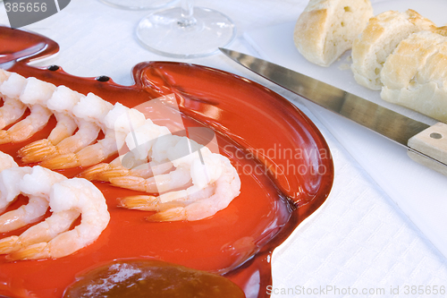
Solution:
M88 180L68 179L42 166L17 166L3 152L0 165L0 233L37 223L18 236L0 239L0 254L8 260L70 255L95 242L108 225L105 198ZM20 195L28 197L28 204L4 212ZM48 209L52 214L45 218ZM70 229L80 216L80 225Z

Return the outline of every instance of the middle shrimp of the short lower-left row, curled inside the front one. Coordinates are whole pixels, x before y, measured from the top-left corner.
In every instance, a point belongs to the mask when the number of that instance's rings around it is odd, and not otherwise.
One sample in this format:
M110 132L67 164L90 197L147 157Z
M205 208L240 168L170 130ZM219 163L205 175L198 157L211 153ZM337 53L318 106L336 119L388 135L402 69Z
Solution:
M32 167L30 174L23 175L18 183L20 192L28 196L30 201L27 205L0 216L0 233L16 230L41 219L48 209L48 195L51 186L65 179L67 178L64 175L44 167Z

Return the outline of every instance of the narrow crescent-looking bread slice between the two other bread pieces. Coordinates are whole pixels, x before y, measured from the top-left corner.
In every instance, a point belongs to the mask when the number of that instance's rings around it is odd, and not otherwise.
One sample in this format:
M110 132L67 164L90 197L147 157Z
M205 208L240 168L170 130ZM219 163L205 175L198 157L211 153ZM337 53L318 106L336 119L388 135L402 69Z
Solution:
M369 89L382 89L382 66L401 40L421 30L433 30L432 21L413 10L388 11L371 18L352 45L351 70L355 80Z

